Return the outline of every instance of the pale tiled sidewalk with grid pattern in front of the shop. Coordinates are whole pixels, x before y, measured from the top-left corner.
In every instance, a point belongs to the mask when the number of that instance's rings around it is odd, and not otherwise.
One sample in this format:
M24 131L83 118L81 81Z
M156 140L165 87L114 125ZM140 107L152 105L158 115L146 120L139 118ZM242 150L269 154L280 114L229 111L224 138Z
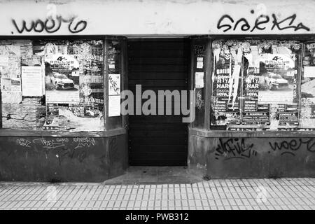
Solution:
M0 183L0 209L315 209L315 179Z

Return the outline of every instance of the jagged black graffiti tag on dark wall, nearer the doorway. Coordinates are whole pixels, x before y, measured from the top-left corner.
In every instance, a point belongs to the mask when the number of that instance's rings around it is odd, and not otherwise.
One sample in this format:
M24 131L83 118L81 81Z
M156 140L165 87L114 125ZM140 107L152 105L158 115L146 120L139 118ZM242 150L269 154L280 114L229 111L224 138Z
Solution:
M251 158L251 156L256 156L257 152L253 151L253 144L246 145L245 139L228 139L223 141L219 139L220 144L218 144L214 155L216 155L216 160L223 157L224 160L231 159L246 159Z

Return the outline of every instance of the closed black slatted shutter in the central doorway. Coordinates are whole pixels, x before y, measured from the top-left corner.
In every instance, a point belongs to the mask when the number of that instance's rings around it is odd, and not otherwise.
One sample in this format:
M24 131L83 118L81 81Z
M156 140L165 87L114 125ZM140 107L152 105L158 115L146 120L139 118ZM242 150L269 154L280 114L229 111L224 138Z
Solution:
M136 85L141 84L142 92L156 92L158 110L158 90L188 90L189 54L189 42L184 38L130 40L129 89L135 94ZM174 115L174 98L172 115L129 116L130 165L186 165L187 144L188 127L181 115Z

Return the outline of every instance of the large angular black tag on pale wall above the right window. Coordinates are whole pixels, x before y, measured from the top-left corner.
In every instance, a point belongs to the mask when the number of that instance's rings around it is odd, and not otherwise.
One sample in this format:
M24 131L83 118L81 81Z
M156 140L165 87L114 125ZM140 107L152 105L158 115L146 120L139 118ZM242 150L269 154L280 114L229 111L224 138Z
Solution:
M254 10L251 10L251 13L255 13ZM276 15L272 14L272 28L274 29L293 29L294 31L297 31L299 29L304 29L306 31L309 31L309 27L306 27L302 24L302 22L298 23L296 25L295 23L296 14L288 16L288 18L285 18L283 20L279 20L276 18ZM270 18L268 15L260 15L256 20L254 25L250 25L248 20L246 18L240 18L235 22L235 20L230 15L223 15L220 20L218 20L217 28L222 29L223 32L229 31L230 29L236 30L238 27L240 27L241 31L248 31L251 30L254 31L255 29L264 30L268 22L270 22Z

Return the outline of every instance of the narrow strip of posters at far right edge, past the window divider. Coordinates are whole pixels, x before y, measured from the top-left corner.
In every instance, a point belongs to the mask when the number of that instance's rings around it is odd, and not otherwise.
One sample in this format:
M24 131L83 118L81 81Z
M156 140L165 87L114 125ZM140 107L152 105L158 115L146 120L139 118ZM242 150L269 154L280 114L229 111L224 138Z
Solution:
M307 43L302 60L300 127L315 129L315 43Z

